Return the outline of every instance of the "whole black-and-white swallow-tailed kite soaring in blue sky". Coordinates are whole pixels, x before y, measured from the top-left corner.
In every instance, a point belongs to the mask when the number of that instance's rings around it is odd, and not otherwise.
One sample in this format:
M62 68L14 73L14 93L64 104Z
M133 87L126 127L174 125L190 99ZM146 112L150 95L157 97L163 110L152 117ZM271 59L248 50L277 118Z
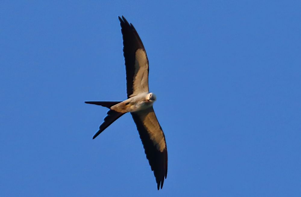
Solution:
M99 126L96 138L115 120L130 112L136 123L146 158L154 171L157 189L163 187L167 176L167 146L165 135L153 109L156 100L154 93L149 92L149 61L143 43L131 23L118 17L123 38L123 55L127 79L127 100L124 101L85 101L109 108L104 122Z

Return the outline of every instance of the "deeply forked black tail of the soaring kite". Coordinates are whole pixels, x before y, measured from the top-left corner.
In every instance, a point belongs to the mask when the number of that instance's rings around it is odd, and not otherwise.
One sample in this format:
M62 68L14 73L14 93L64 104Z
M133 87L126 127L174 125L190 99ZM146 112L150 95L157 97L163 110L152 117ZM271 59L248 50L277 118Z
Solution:
M100 105L103 107L107 107L110 109L111 106L121 103L122 101L85 101L88 104ZM120 118L124 113L117 112L114 110L109 110L107 112L108 116L105 117L104 121L100 126L98 132L95 133L93 139L96 138L103 130L105 130L108 126L110 126L115 120Z

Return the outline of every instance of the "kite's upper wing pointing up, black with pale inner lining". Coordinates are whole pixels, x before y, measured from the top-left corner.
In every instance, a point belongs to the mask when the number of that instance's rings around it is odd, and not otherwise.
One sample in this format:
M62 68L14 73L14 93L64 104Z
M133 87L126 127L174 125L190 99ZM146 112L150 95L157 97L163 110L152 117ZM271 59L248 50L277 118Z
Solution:
M149 92L149 61L143 43L132 24L118 17L123 38L123 55L127 74L127 97Z

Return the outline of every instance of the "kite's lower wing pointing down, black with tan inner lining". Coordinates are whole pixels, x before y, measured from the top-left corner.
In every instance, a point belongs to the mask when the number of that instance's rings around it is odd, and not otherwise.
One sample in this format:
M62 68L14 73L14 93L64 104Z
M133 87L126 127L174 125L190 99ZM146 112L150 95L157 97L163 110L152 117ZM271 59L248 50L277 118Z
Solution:
M163 187L167 176L167 146L165 135L155 115L153 107L131 113L136 123L146 158L157 182L157 188Z

